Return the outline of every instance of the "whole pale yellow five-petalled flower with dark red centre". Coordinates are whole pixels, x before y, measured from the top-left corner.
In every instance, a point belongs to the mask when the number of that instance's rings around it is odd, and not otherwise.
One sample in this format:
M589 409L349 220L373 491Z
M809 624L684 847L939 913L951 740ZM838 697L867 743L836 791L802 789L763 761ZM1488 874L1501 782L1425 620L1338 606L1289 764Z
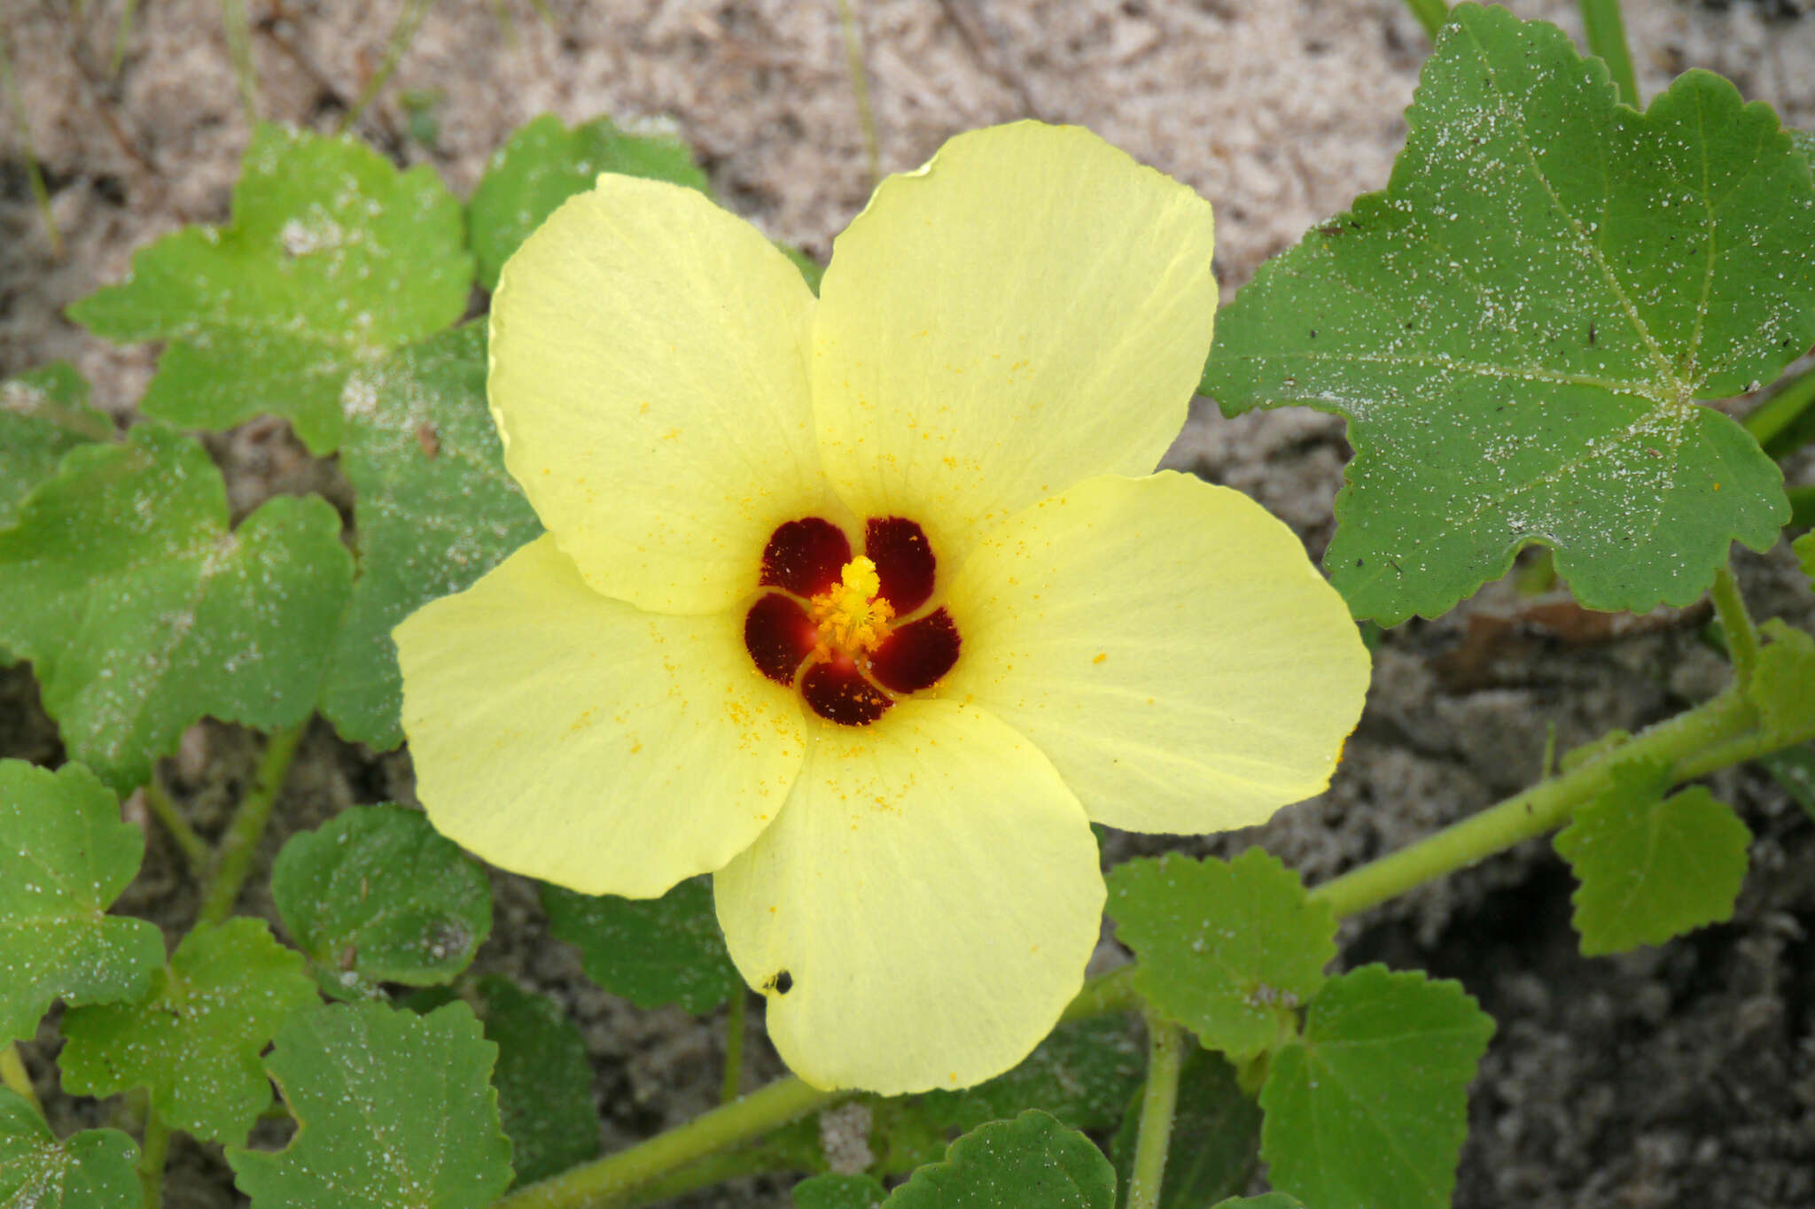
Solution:
M1183 185L1016 123L884 181L815 299L699 194L601 176L492 303L548 537L396 633L436 827L586 894L713 874L809 1084L1016 1064L1096 946L1091 819L1260 823L1361 711L1292 533L1149 473L1211 239Z

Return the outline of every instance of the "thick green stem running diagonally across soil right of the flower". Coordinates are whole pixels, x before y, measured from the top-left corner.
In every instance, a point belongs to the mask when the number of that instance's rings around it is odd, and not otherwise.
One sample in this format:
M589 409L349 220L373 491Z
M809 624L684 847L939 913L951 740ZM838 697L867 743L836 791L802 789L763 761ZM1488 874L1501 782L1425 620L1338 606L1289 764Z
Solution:
M1338 917L1354 915L1427 881L1476 865L1516 843L1561 827L1577 807L1606 788L1615 765L1630 759L1657 761L1672 770L1673 781L1686 781L1706 776L1715 767L1726 767L1724 763L1704 767L1704 756L1713 749L1748 752L1726 761L1735 763L1784 745L1757 734L1755 725L1757 711L1742 694L1730 689L1704 705L1606 749L1559 778L1541 781L1407 848L1352 868L1312 890L1310 897L1329 903ZM1739 740L1751 743L1735 747ZM1753 747L1762 750L1753 752Z

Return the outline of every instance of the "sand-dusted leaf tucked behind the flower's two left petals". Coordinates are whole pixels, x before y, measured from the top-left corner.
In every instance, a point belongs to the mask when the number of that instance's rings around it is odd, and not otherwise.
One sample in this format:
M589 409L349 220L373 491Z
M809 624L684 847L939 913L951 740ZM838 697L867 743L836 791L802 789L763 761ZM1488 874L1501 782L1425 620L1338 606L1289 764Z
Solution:
M321 712L343 740L403 743L392 627L465 591L541 526L505 473L485 404L485 324L468 323L347 381L341 469L354 486L359 578L334 636Z

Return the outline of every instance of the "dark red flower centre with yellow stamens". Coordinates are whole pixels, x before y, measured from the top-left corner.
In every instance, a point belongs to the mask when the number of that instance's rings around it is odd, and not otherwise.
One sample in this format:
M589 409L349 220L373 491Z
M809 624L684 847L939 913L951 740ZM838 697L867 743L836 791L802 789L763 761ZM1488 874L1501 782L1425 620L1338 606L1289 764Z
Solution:
M744 616L750 660L795 687L815 714L864 727L898 696L933 687L958 662L958 627L944 607L915 616L937 573L926 531L904 517L864 526L851 556L844 529L790 520L762 551L764 593Z

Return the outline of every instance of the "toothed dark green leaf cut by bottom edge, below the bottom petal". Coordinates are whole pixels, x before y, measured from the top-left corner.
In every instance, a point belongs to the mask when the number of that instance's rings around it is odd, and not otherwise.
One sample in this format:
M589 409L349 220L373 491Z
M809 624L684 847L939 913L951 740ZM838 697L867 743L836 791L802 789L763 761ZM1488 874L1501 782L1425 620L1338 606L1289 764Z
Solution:
M993 1120L951 1144L888 1209L1113 1209L1116 1173L1082 1133L1045 1113Z

